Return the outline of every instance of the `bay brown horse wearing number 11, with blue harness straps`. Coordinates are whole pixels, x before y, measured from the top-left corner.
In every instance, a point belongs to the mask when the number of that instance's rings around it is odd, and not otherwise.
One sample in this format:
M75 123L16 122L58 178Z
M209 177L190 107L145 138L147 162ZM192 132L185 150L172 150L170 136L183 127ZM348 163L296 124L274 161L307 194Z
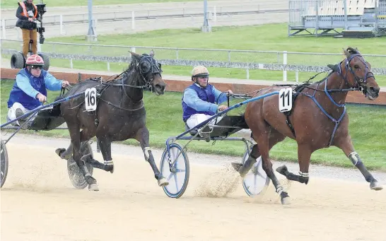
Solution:
M299 175L288 171L285 165L277 172L288 180L308 184L308 167L311 154L321 148L337 146L351 160L370 182L370 189L380 190L382 186L368 172L358 153L353 148L349 135L349 116L346 113L346 96L350 90L362 90L366 98L378 98L380 88L366 62L357 49L344 50L346 59L331 67L333 71L322 81L304 84L295 89L291 112L279 111L277 95L250 102L245 110L245 122L257 141L244 165L233 163L233 167L242 177L262 156L262 167L272 180L276 192L281 196L281 204L289 204L288 192L283 189L272 170L269 150L286 136L298 143ZM260 90L257 95L279 91L282 87L270 86ZM303 89L303 90L302 90Z

